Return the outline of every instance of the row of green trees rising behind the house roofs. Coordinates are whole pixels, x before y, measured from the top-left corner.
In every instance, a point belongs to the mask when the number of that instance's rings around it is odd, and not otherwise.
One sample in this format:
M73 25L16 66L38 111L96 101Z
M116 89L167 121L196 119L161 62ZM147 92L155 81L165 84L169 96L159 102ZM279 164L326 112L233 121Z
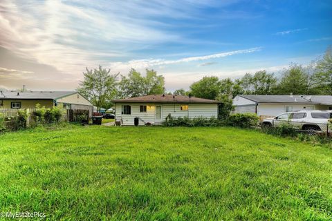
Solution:
M146 69L145 76L131 69L127 76L110 74L101 66L83 73L84 81L77 89L98 108L109 108L112 99L165 93L165 78L155 70ZM172 93L171 93L172 94ZM332 95L332 50L310 66L291 64L281 75L259 70L239 79L203 77L190 85L190 90L175 90L174 94L193 95L223 102L225 111L232 107L237 95ZM222 110L221 110L222 111Z

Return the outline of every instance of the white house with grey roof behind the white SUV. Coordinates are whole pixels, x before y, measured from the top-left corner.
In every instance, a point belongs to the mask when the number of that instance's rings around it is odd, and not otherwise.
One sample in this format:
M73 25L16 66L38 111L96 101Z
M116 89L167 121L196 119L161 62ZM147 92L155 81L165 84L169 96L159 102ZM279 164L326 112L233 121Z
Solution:
M256 113L258 116L277 116L289 111L332 110L329 95L237 95L233 99L233 113Z

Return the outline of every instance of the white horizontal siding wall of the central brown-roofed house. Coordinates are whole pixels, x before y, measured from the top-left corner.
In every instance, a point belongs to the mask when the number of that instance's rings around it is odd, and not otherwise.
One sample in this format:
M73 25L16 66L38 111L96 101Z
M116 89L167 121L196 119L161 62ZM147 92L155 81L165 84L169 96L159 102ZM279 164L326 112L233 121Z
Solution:
M122 105L131 106L131 115L122 115ZM147 111L147 113L140 113L140 105L154 106L153 111ZM181 105L188 105L188 111L181 111ZM133 125L133 119L140 117L146 123L151 124L156 122L156 106L161 106L161 122L165 121L165 118L169 113L172 117L218 117L218 104L138 104L138 103L117 103L116 104L116 118L121 117L123 125ZM140 121L140 125L144 122Z

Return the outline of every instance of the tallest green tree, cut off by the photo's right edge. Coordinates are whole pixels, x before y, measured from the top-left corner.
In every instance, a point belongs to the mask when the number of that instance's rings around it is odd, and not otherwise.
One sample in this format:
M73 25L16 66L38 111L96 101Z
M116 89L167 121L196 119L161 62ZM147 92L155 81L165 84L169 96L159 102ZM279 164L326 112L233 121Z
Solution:
M313 84L320 89L321 94L332 95L332 48L317 61L317 72L313 75Z

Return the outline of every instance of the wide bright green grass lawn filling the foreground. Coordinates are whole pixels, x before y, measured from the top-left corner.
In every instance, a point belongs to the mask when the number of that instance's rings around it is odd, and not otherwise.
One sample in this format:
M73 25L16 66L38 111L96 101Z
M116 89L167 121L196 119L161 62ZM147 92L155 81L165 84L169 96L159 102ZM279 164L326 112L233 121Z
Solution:
M0 209L50 220L331 220L332 149L227 127L6 133Z

